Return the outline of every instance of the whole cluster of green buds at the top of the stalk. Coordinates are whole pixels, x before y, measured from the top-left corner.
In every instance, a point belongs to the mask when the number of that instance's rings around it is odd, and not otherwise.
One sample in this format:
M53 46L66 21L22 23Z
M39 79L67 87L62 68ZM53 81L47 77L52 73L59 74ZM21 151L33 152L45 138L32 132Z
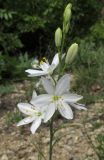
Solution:
M62 53L63 52L63 44L65 41L65 36L68 33L69 27L70 27L70 20L71 20L71 15L72 15L72 4L69 3L63 13L63 30L61 30L60 27L58 27L55 31L55 45L58 49L59 56L61 55L60 59L62 58ZM73 43L67 53L66 56L64 56L64 60L65 60L65 65L71 64L74 60L74 58L76 57L78 52L78 44Z

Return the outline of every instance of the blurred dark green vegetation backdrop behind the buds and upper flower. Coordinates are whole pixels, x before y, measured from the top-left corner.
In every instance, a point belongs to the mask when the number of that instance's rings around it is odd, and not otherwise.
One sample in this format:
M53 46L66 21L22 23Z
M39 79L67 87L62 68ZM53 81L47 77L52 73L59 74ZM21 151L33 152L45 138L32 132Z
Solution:
M104 0L0 1L1 94L12 92L13 82L27 79L24 71L35 57L51 59L57 52L54 32L62 28L63 11L69 2L72 19L65 45L79 44L78 56L70 67L75 75L73 90L84 95L86 103L104 97Z

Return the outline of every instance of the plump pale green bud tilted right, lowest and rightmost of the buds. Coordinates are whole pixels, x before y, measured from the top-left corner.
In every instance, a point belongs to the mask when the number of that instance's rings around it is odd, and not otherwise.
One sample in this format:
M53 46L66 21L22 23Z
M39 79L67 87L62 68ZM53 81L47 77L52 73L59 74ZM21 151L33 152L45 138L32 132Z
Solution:
M74 43L72 44L67 52L66 58L65 58L65 63L70 64L74 60L75 56L77 55L78 52L78 44Z

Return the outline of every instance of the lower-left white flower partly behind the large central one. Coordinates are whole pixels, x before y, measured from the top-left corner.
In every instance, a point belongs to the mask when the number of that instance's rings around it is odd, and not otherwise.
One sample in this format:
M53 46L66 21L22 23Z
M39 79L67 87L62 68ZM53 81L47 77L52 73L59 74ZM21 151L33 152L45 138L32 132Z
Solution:
M36 97L37 97L36 92L33 92L32 100ZM21 125L25 125L33 122L30 130L32 134L34 134L38 129L38 127L41 125L42 120L44 119L45 110L40 110L39 108L29 103L18 103L17 106L22 113L27 115L27 117L21 120L17 124L17 126L21 126ZM47 122L49 119L47 118L45 122Z

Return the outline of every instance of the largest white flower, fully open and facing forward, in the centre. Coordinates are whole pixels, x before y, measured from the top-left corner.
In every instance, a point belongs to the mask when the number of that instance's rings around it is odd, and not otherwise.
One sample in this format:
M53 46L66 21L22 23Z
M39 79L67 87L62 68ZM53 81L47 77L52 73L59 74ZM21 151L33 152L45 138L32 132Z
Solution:
M77 109L86 109L84 106L78 105L76 102L83 97L77 94L71 94L70 78L66 74L57 82L56 87L52 84L52 81L42 78L42 84L48 94L39 95L33 98L31 104L36 105L38 108L46 108L44 122L47 118L52 117L55 110L58 109L60 114L66 119L73 119L73 112L70 106Z

